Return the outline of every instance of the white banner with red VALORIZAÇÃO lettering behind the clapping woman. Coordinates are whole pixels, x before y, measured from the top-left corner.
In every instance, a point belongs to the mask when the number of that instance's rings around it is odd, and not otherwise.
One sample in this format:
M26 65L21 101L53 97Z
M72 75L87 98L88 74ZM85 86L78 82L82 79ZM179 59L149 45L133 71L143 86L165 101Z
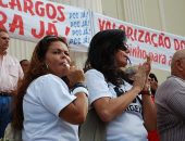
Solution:
M104 29L123 29L127 36L130 57L138 65L151 56L152 67L170 70L172 55L176 50L185 49L185 38L137 26L115 18L94 13L95 33Z

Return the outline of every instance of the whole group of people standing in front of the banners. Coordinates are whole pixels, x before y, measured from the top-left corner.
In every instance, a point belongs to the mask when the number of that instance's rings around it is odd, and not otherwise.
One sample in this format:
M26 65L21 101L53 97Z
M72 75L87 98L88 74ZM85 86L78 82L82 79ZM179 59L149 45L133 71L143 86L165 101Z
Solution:
M64 38L48 35L30 61L9 55L0 29L0 139L2 141L184 141L185 49L158 85L150 56L127 67L121 29L97 33L84 69ZM9 132L9 133L7 133Z

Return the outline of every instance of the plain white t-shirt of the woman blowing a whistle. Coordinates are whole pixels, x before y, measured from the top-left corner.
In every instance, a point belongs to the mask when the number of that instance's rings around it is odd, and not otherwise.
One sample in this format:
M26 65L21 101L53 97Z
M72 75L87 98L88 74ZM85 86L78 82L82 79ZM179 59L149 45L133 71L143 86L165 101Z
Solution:
M78 126L59 117L59 113L76 99L66 84L54 75L34 80L24 95L24 141L78 141Z

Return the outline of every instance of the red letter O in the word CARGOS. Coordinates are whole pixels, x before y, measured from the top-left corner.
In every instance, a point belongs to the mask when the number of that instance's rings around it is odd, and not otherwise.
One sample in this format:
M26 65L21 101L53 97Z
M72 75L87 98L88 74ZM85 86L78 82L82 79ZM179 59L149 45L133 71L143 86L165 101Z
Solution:
M54 5L52 5L51 3L47 3L46 4L46 12L49 18L53 20L57 16L57 11Z

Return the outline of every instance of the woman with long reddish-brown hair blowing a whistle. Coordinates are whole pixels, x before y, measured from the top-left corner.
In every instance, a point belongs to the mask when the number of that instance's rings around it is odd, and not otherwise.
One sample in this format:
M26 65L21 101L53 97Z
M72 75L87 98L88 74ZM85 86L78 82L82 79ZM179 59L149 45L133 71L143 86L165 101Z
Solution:
M84 72L70 65L63 38L46 36L37 43L14 101L12 126L23 141L78 141L88 91Z

